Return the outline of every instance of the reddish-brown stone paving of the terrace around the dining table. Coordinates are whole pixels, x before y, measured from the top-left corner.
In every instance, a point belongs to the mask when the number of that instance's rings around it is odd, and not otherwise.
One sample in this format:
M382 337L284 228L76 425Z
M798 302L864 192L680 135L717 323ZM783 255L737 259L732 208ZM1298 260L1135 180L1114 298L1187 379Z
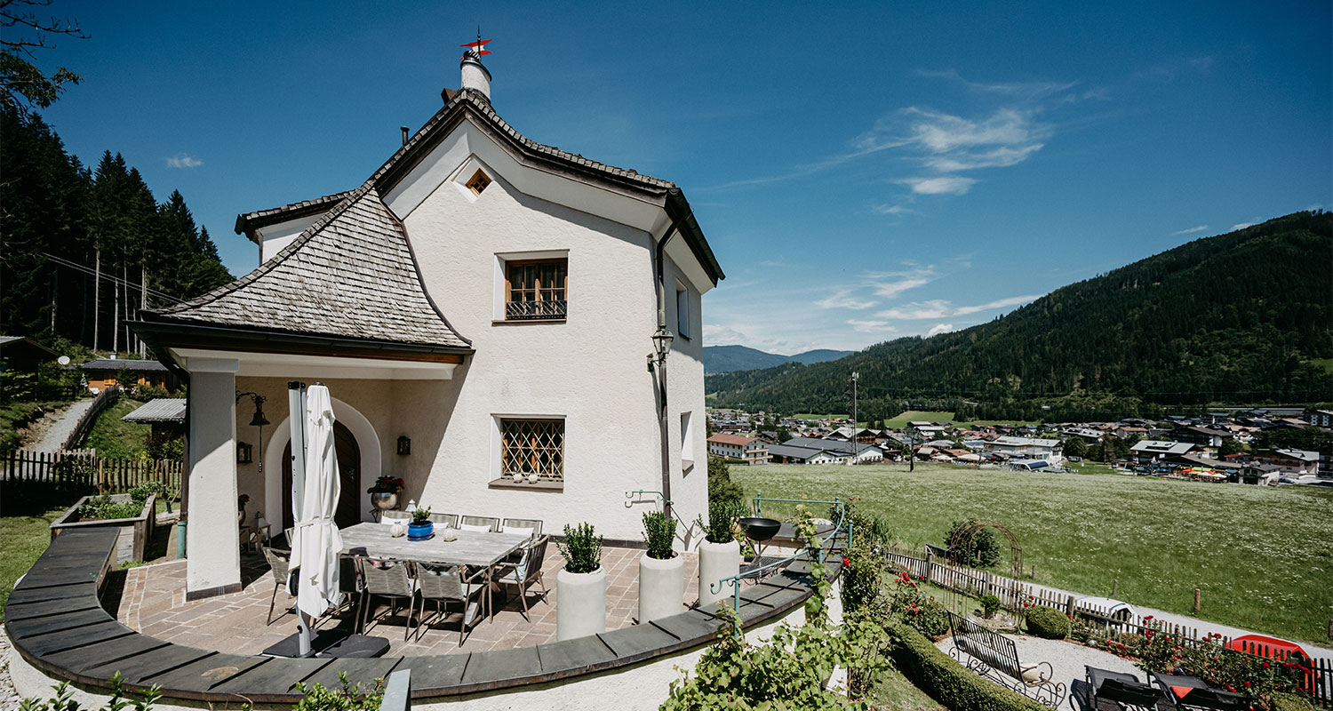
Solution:
M635 624L639 615L639 559L641 550L604 548L601 563L607 568L607 628L617 630ZM685 600L688 604L698 599L698 558L685 556ZM464 652L531 647L556 640L556 574L564 566L564 559L556 552L555 543L547 550L543 566L543 579L547 595L543 599L541 586L528 590L529 619L521 614L519 598L508 599L496 595L496 614L477 623L463 643ZM216 650L231 654L259 654L271 644L296 631L296 616L284 612L293 599L284 590L277 592L273 624L265 624L268 603L273 594L273 576L263 556L243 554L241 583L244 590L232 595L221 595L204 600L185 602L185 562L159 563L125 571L124 588L120 595L117 616L128 627L159 639L187 644L201 650ZM513 588L511 588L513 590ZM503 606L503 607L501 607ZM388 607L380 604L379 611ZM356 607L327 618L317 628L344 626L352 628ZM281 615L281 616L279 616ZM427 604L427 619L433 616L433 603ZM457 652L459 618L429 628L420 635L404 640L407 615L397 615L368 624L365 634L389 640L391 656L412 656Z

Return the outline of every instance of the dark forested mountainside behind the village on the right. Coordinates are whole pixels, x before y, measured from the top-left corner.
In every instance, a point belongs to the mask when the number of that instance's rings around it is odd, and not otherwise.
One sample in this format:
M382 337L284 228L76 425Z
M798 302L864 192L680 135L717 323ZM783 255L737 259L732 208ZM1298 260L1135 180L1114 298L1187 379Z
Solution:
M1333 217L1298 212L1050 292L990 323L837 363L710 375L714 404L862 418L929 402L960 416L1129 416L1160 406L1321 402L1333 392ZM973 404L974 403L974 404ZM1046 406L1049 410L1044 410ZM882 412L882 415L881 415Z

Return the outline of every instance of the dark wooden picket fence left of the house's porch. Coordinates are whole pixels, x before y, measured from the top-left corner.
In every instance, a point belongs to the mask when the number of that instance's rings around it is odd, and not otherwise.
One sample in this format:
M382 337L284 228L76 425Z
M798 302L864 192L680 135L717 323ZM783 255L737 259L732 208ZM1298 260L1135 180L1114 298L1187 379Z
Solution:
M145 482L161 482L180 491L181 463L169 460L111 459L93 450L9 452L0 459L0 486L51 487L61 491L119 494Z

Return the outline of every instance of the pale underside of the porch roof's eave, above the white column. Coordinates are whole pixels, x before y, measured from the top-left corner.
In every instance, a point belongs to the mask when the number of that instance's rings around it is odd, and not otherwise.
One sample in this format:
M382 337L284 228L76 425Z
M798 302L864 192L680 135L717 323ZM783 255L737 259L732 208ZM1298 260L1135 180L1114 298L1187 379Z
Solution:
M192 371L191 362L236 360L237 376L257 378L357 378L365 380L449 380L459 363L439 360L396 360L385 358L341 358L307 353L269 353L208 348L168 348L172 359ZM463 359L455 356L456 360Z

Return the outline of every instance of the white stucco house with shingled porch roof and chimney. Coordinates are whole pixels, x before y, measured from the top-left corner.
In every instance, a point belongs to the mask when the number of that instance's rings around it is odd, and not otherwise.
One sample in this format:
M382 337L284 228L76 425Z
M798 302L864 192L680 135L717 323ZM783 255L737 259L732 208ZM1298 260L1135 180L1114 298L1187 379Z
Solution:
M435 511L587 520L608 540L639 540L657 506L627 491L706 510L700 296L724 275L689 203L525 137L479 57L461 69L360 185L239 216L257 269L135 324L189 378L188 596L240 590L239 494L291 520L289 380L333 396L340 526L371 518L380 475ZM269 427L251 426L256 398Z

